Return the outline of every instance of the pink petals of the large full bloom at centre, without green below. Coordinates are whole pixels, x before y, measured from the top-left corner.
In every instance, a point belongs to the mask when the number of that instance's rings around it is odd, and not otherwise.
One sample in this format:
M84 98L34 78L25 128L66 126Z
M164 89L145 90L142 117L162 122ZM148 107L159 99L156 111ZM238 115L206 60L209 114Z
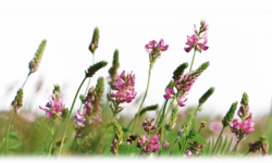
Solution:
M116 102L132 102L135 99L137 92L134 90L135 85L135 74L133 72L131 74L125 75L125 71L122 72L120 76L116 77L114 83L111 85L110 96L111 98L116 98ZM111 99L114 100L114 99Z

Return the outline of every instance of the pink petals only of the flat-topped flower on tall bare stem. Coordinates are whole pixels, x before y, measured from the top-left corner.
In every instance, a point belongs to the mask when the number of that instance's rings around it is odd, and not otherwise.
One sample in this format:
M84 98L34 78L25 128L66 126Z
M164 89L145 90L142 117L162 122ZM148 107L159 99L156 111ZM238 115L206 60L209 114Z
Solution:
M164 46L164 40L163 39L161 39L160 40L160 42L157 45L157 41L156 40L151 40L151 41L149 41L149 43L147 43L146 45L146 51L148 52L148 53L160 53L161 51L165 51L165 50L168 50L168 48L169 48L169 45L165 45Z

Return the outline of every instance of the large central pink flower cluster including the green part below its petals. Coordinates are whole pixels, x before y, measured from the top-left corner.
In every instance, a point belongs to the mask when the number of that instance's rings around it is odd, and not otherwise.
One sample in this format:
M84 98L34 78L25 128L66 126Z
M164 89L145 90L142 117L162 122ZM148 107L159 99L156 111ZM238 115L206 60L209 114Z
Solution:
M125 71L118 75L114 83L111 85L111 92L108 95L108 100L113 102L111 109L114 114L121 112L124 108L120 103L131 103L135 99L137 92L134 89L135 74L125 74Z

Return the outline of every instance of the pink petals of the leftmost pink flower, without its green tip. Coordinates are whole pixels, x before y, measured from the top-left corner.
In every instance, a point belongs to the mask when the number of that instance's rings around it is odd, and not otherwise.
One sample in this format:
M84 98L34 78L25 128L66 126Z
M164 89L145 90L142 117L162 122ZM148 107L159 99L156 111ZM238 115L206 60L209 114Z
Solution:
M44 109L39 106L40 110L46 111L47 117L51 117L55 115L55 117L60 117L62 114L62 110L65 109L65 104L62 103L61 93L53 93L49 97L49 102L46 104L48 109Z

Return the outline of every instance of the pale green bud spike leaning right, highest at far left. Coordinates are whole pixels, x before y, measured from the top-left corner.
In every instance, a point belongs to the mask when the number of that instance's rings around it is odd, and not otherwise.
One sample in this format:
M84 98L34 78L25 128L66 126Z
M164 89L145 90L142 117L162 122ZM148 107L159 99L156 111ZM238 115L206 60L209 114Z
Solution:
M46 48L46 45L47 45L47 40L42 40L39 48L38 48L38 50L37 50L37 52L35 53L34 59L29 62L29 65L28 65L29 75L32 73L35 73L38 70L38 66L39 66L44 50Z

